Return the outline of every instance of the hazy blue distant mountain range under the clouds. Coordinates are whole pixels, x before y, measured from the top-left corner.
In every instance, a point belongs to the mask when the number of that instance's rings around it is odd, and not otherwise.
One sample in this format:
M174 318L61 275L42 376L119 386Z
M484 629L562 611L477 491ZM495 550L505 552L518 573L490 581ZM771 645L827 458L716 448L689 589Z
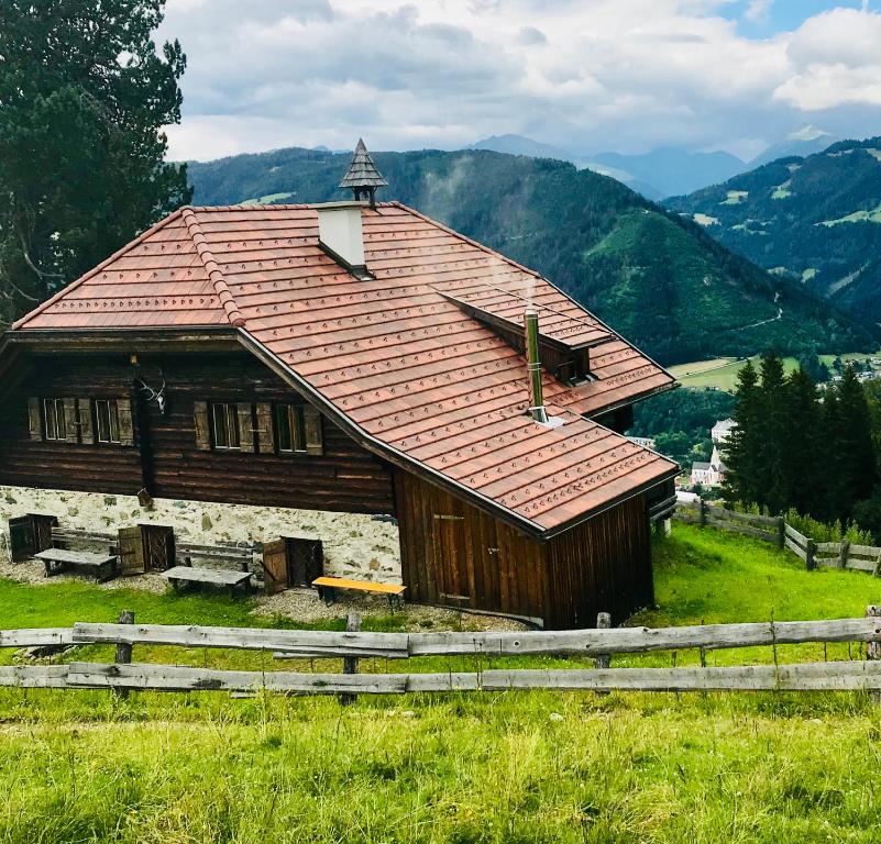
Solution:
M493 135L472 144L469 148L571 162L576 167L587 167L603 176L612 176L613 179L623 181L647 199L657 201L664 197L692 193L709 185L718 185L739 173L777 158L817 153L834 142L835 138L827 132L806 126L769 147L749 163L726 152L694 153L679 147L663 147L642 155L623 153L587 155L542 144L522 135Z

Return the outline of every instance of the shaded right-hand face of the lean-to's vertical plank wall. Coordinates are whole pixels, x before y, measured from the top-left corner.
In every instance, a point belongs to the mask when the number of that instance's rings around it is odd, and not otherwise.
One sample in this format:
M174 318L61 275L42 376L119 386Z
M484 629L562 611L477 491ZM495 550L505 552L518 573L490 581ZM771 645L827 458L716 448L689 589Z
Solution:
M593 628L599 612L618 624L654 602L651 536L642 496L548 542L550 626Z

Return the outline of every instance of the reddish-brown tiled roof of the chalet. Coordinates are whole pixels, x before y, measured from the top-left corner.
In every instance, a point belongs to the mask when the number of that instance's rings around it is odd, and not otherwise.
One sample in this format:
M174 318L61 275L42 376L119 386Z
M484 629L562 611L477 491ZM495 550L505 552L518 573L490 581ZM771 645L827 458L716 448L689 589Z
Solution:
M582 413L672 377L539 275L398 203L362 210L357 280L318 244L308 206L181 209L14 326L233 325L377 451L420 464L537 532L670 477L675 464ZM524 358L475 309L591 348L596 380L544 376L551 415L526 415Z

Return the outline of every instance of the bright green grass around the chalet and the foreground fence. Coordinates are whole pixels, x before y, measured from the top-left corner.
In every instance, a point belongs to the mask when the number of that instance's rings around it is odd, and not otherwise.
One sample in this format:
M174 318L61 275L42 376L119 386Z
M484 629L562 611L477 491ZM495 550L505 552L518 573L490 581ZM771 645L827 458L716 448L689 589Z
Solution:
M675 525L656 559L660 609L635 623L861 615L881 601L881 581L868 575L807 573L791 554L713 530ZM145 622L277 624L225 596L0 581L4 628L113 619L123 607ZM778 654L817 656L813 646ZM261 658L135 648L136 659L168 657ZM708 655L711 664L771 658L771 648ZM262 695L123 701L3 690L0 745L4 844L868 844L881 835L881 708L859 695L530 692L365 697L341 708Z

